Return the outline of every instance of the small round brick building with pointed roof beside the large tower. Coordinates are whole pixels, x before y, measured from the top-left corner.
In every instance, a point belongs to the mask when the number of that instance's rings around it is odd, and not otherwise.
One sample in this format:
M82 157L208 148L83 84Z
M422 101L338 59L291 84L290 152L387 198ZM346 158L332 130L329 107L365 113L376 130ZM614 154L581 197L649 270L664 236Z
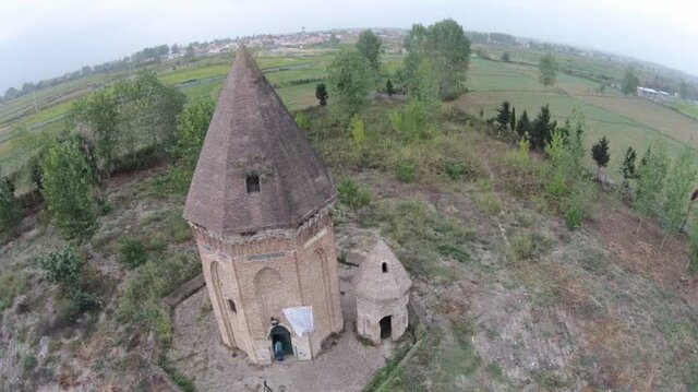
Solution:
M382 239L359 266L354 286L359 335L374 344L402 336L409 323L407 302L412 281Z

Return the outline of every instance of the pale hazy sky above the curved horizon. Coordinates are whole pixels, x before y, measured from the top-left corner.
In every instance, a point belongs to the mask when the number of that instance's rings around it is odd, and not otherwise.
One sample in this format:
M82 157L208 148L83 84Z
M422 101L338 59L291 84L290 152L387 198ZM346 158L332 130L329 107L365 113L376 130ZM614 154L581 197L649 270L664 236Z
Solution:
M0 0L0 93L159 44L445 17L698 74L696 11L682 0Z

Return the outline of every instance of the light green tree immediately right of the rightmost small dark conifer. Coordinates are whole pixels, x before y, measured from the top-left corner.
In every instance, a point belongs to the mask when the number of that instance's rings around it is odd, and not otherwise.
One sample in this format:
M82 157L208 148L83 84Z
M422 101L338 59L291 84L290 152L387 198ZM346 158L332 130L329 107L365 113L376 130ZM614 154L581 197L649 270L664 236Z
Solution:
M653 141L642 155L637 168L635 205L647 216L657 216L660 213L670 165L666 149L666 142L663 139Z

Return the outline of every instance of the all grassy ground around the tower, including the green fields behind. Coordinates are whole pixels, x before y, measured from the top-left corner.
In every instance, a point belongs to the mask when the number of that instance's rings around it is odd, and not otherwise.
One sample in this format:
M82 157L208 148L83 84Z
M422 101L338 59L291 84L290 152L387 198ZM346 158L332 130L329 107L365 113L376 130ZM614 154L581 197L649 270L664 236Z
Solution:
M405 104L382 97L364 114L365 140L357 142L315 107L315 83L335 50L263 51L258 63L287 107L302 110L302 131L340 188L333 222L337 238L348 240L338 254L361 254L360 239L378 233L426 313L426 332L402 343L370 391L698 390L698 280L686 270L686 237L666 236L590 181L598 194L590 216L569 230L559 200L545 190L549 163L479 118L505 99L531 117L550 103L558 121L578 106L587 141L611 140L614 174L628 145L642 151L662 136L673 153L696 147L690 107L674 110L612 88L600 95L598 82L568 74L544 88L534 66L473 58L469 93L444 104L433 135L401 139L390 115ZM386 58L389 70L401 62ZM189 98L216 98L229 63L222 54L153 70ZM129 75L37 93L37 112L31 96L3 106L0 164L19 167L26 158L13 154L12 129L58 132L71 99ZM79 251L99 312L72 318L65 293L45 280L37 257L63 245L45 212L31 212L20 235L2 243L0 390L160 390L168 385L163 370L185 390L196 385L201 375L186 358L176 367L168 357L177 331L161 302L201 272L181 217L185 189L169 186L171 174L161 164L105 183L108 206ZM130 266L120 260L123 243L134 242L146 257ZM200 313L204 320L210 308Z

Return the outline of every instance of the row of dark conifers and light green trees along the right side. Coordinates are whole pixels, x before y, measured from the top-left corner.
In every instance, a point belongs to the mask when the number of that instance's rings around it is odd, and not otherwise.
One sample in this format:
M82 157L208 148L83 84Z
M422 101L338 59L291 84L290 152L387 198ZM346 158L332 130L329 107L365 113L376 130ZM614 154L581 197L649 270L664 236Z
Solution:
M550 109L542 107L538 117L529 122L526 110L516 119L516 109L508 102L502 103L497 115L490 120L502 132L516 134L528 146L544 152L550 167L545 190L564 205L568 226L576 226L586 215L590 191L583 186L589 177L583 171L585 130L583 115L575 109L561 127L551 121ZM592 144L590 156L597 164L597 178L601 168L611 162L610 141L602 136ZM581 171L579 171L581 170ZM698 153L684 149L672 162L666 142L653 141L638 161L638 154L628 147L622 157L619 174L623 178L621 193L643 216L654 218L666 233L676 235L682 229L690 234L691 258L698 260L698 219L687 227L690 205L698 199L691 191L698 181ZM640 223L641 226L641 223ZM639 227L638 227L639 229Z

